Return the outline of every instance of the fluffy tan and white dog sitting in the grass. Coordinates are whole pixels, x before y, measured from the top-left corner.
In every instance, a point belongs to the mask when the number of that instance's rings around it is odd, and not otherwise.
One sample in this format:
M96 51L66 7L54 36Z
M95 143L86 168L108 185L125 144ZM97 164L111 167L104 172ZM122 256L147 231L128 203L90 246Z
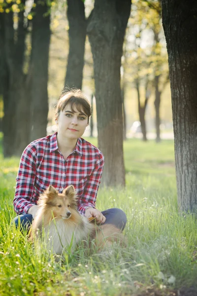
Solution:
M54 254L62 255L71 247L74 250L82 240L89 239L101 251L114 241L123 245L125 238L121 230L111 224L97 226L95 222L80 215L77 211L77 198L73 185L69 185L63 193L49 186L38 200L38 213L33 221L31 238L43 237L47 249Z

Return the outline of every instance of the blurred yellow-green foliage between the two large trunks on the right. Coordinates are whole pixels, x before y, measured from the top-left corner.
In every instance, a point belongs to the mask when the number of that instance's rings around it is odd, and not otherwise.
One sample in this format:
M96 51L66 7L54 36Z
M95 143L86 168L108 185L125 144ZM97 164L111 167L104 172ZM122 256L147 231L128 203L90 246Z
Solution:
M168 79L167 51L158 0L133 0L125 45L127 79L144 84L161 75L161 89ZM153 82L152 82L153 84Z

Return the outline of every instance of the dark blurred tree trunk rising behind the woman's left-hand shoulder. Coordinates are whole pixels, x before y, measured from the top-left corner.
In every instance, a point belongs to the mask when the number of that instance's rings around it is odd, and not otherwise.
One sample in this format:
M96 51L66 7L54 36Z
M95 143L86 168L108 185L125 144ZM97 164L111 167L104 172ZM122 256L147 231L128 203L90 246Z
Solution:
M32 55L30 76L31 81L31 117L30 140L46 136L48 116L48 62L50 44L50 15L46 2L35 0L33 16Z

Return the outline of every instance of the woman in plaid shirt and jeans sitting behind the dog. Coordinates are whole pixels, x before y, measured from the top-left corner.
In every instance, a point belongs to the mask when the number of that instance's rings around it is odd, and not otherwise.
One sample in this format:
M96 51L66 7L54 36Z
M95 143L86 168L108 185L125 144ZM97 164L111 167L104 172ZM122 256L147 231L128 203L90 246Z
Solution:
M111 223L124 229L127 218L122 210L100 212L95 208L104 157L98 148L81 138L90 116L91 106L79 89L63 93L55 113L58 132L25 148L16 178L16 225L20 220L20 225L30 226L38 210L39 195L49 185L61 193L72 184L82 215L96 217L98 224Z

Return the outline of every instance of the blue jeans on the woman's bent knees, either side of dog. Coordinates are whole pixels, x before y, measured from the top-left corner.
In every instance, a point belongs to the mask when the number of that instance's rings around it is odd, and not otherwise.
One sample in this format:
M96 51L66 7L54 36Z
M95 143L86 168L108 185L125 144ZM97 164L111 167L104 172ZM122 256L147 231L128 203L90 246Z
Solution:
M125 212L121 209L112 208L101 212L106 220L104 224L113 224L121 230L124 230L125 225L127 223L127 216ZM33 216L31 214L23 214L14 218L14 222L16 227L19 225L20 220L20 228L29 228L33 222Z

